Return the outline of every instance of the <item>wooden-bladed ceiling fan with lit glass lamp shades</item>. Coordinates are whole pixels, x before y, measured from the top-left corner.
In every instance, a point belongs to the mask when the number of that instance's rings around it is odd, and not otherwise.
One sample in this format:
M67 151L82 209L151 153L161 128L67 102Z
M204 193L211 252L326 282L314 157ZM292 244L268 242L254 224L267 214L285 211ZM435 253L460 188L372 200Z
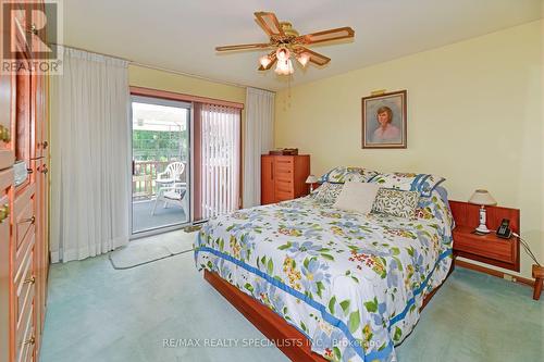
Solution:
M274 13L271 12L256 12L255 17L257 23L264 29L270 37L269 42L261 43L245 43L237 46L223 46L217 47L217 51L233 51L233 50L260 50L273 49L270 53L262 55L259 59L259 71L268 71L274 64L275 73L280 75L289 75L294 73L293 62L290 57L306 66L308 62L317 65L325 65L331 61L330 58L317 53L307 48L319 42L347 39L355 36L353 28L345 26L335 29L329 29L307 35L299 35L288 22L279 22Z

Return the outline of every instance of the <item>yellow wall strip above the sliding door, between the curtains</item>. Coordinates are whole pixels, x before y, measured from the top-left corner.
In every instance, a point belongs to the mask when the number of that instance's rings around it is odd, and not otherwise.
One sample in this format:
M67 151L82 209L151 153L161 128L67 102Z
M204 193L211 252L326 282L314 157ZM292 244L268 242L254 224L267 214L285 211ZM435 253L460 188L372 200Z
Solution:
M246 101L246 88L243 87L203 80L132 64L128 66L128 82L131 86L169 90L239 103L245 103Z

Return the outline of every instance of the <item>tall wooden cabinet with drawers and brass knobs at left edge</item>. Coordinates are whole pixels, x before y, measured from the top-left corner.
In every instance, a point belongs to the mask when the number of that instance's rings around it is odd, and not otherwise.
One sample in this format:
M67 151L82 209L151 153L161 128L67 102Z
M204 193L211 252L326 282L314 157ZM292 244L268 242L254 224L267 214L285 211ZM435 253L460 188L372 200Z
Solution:
M16 16L28 25L24 11ZM32 62L24 35L15 37L20 61ZM41 342L49 265L46 82L25 71L0 76L1 362L36 361ZM28 170L17 185L15 161Z

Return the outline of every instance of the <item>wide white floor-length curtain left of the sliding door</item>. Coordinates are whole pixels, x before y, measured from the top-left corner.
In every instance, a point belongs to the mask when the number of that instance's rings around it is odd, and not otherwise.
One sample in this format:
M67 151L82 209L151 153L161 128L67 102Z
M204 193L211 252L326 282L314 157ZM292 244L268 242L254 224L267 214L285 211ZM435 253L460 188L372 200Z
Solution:
M64 48L51 77L51 261L128 241L127 62Z

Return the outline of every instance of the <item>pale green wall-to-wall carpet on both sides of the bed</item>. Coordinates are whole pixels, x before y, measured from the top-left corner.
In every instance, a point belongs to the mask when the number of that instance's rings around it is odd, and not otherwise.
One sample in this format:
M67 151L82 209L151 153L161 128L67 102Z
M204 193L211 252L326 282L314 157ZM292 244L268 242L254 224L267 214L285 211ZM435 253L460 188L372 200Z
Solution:
M397 347L398 361L542 361L544 300L457 269ZM274 347L163 347L264 336L206 283L193 253L115 271L108 255L51 265L42 362L287 361Z

